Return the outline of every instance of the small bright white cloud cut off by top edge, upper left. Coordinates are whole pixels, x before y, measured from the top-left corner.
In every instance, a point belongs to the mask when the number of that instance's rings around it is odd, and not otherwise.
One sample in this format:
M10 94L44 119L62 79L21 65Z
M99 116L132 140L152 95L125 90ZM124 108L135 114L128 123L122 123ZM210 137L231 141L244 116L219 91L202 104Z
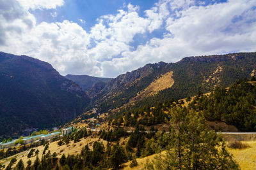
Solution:
M57 6L62 6L64 0L17 0L26 10L35 9L56 9Z

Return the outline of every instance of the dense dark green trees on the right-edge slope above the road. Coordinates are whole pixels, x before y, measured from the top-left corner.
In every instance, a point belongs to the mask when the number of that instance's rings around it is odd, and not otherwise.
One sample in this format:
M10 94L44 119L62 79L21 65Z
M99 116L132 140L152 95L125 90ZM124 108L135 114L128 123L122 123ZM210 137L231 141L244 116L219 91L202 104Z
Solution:
M235 125L241 131L256 130L256 87L240 80L225 88L216 88L211 95L196 97L189 108L200 111L207 120Z

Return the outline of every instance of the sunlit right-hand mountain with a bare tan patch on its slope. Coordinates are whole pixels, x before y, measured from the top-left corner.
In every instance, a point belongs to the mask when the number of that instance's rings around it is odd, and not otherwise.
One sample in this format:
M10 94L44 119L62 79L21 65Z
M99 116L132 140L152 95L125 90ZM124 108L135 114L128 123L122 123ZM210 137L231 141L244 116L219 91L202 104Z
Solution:
M228 87L240 78L250 77L256 70L256 52L229 53L200 57L185 57L176 63L147 64L127 72L95 91L92 103L100 112L124 104L182 99L216 87Z

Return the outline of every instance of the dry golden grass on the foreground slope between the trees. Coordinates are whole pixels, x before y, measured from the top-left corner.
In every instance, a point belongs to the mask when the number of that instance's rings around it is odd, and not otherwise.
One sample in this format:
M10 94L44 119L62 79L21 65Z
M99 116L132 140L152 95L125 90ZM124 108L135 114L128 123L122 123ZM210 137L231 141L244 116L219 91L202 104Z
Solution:
M127 139L128 138L122 138L120 141L120 144L124 146L124 143L127 143ZM74 143L74 141L71 141L68 145L62 145L62 146L58 146L57 142L52 142L49 145L49 150L51 151L51 153L56 152L58 154L58 157L60 158L63 153L65 153L66 156L68 154L80 153L83 146L85 146L87 144L92 149L92 145L93 145L94 141L102 141L102 139L88 137L86 139L81 139L81 141L79 141L77 143ZM107 142L106 141L102 141L102 142L103 142L104 146L106 146ZM234 160L236 160L237 164L239 164L241 169L246 169L246 170L247 169L256 169L256 141L242 141L242 143L247 144L249 147L244 148L244 149L227 148L228 152L230 152L234 156ZM36 148L36 149L38 149L40 151L38 154L38 157L41 158L43 150L44 150L44 146L38 146L38 148ZM47 152L48 152L48 150L47 150ZM45 153L47 153L47 152L45 152ZM29 160L27 157L28 153L29 153L29 151L18 153L17 155L13 155L12 157L8 158L7 162L6 162L6 160L1 160L0 162L4 163L7 166L9 164L10 160L13 157L16 157L17 162L19 162L19 160L22 159L26 166L27 162ZM146 162L151 161L152 159L154 159L155 156L156 156L156 154L150 155L145 158L137 159L138 166L133 167L133 168L129 167L130 162L127 162L127 163L123 164L122 169L142 169L145 166ZM36 156L34 154L33 157L30 158L30 160L32 162L34 162L35 159L36 159Z

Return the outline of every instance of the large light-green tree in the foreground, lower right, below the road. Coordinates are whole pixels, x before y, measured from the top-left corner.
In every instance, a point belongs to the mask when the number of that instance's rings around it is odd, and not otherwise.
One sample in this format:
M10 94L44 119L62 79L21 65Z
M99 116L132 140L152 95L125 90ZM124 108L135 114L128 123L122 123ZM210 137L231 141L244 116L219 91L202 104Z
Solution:
M154 161L154 169L238 169L214 131L206 131L205 119L195 111L173 108L170 116L172 142L166 154Z

